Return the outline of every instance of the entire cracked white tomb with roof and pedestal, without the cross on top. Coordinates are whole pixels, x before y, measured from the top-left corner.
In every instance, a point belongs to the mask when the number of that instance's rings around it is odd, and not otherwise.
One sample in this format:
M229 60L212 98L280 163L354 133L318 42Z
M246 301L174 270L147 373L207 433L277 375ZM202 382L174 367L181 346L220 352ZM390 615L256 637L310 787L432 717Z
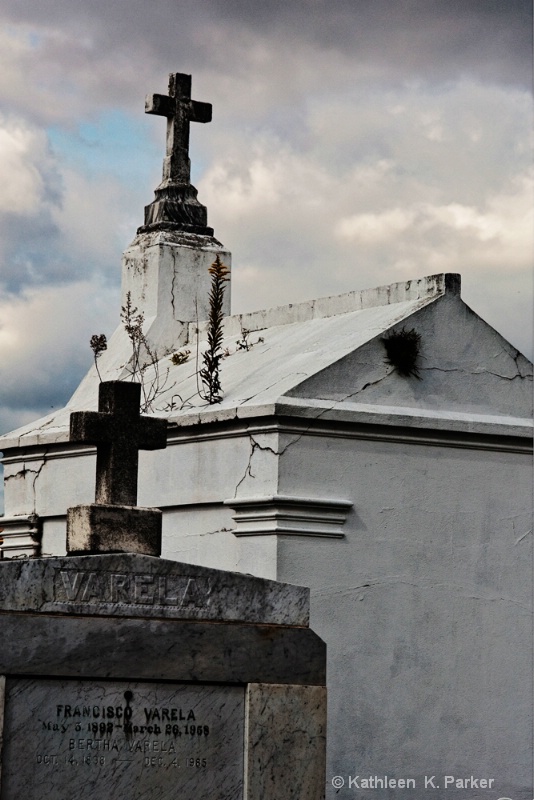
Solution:
M140 454L138 502L163 511L163 557L311 587L327 798L334 777L362 791L385 776L413 779L410 797L434 776L447 797L472 777L531 798L531 364L458 275L434 275L227 316L210 405L196 353L217 254L230 266L209 233L163 226L123 260L122 304L162 356L151 410L168 444ZM402 374L386 342L410 335L417 374ZM129 378L130 358L119 324L102 379ZM65 553L66 510L92 502L95 475L69 415L96 409L99 380L93 367L64 409L0 440L4 558Z

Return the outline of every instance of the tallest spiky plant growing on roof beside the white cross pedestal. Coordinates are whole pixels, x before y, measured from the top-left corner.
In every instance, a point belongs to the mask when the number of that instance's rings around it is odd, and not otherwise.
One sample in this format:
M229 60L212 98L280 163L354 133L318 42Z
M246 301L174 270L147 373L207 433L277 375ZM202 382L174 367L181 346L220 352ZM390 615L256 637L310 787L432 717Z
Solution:
M229 281L230 270L225 266L219 254L209 268L211 275L211 290L209 296L208 318L208 349L202 354L202 369L199 372L202 381L200 397L208 403L220 403L222 388L220 380L220 364L224 357L223 342L223 301L226 283Z

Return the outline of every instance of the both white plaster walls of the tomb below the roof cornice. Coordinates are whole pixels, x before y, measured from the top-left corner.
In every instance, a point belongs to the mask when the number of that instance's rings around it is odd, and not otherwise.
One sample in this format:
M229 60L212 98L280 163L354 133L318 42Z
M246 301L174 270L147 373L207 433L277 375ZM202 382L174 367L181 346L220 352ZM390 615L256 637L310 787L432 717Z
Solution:
M502 796L526 798L530 457L270 425L176 431L141 453L139 503L175 506L164 556L311 587L329 648L329 774L498 774ZM94 457L49 453L36 481L34 463L19 480L28 498L35 482L38 513L91 499ZM276 493L352 501L345 538L236 539L222 501ZM61 525L45 521L44 552Z

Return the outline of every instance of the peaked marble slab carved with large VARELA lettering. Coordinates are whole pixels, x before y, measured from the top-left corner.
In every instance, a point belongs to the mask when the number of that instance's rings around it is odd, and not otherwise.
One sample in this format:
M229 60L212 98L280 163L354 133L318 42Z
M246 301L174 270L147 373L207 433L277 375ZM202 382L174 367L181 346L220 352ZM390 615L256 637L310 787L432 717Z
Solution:
M307 627L303 586L112 554L0 562L0 610Z

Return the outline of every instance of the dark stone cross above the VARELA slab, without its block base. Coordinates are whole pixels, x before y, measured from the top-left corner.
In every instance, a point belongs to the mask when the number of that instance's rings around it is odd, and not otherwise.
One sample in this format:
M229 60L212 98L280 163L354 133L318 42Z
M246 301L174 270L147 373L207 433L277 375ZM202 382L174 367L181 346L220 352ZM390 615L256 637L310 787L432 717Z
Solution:
M167 420L139 415L141 385L100 384L98 411L70 415L70 440L96 445L98 504L135 506L139 450L167 446Z

